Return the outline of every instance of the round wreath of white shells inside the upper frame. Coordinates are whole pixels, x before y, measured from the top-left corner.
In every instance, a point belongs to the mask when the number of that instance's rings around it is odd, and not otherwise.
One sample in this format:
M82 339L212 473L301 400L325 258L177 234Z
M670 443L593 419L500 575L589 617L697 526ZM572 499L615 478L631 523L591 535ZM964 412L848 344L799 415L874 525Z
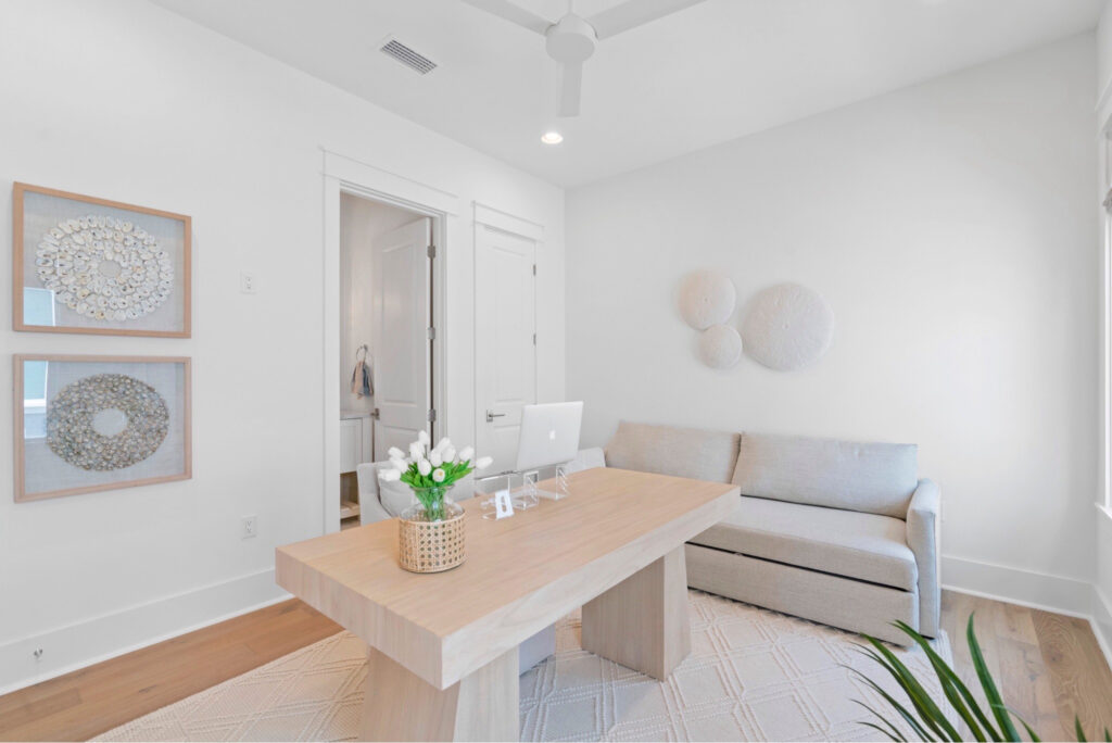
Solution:
M173 264L133 222L89 215L63 219L36 251L42 286L78 315L133 320L158 309L173 289Z

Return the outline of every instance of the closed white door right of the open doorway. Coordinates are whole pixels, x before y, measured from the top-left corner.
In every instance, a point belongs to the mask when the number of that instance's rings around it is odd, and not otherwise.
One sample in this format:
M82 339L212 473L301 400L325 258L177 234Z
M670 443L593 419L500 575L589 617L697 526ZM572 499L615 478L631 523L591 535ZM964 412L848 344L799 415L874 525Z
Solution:
M513 469L522 406L537 402L536 242L476 225L476 449Z

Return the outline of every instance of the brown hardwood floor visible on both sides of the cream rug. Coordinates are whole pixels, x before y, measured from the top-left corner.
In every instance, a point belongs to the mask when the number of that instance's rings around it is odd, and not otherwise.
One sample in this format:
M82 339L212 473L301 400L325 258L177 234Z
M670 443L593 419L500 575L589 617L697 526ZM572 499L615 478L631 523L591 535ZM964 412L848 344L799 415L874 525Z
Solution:
M1112 671L1088 622L943 592L943 627L971 687L971 612L1004 700L1043 740L1073 740L1074 714L1090 740L1112 727ZM299 601L276 604L0 696L0 740L88 740L336 632Z

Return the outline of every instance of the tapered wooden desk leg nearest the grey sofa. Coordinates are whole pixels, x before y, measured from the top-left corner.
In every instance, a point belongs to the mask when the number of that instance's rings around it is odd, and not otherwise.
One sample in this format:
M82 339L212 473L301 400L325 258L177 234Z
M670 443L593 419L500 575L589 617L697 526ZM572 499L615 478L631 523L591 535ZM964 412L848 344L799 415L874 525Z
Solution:
M692 652L684 548L583 607L583 648L664 681Z

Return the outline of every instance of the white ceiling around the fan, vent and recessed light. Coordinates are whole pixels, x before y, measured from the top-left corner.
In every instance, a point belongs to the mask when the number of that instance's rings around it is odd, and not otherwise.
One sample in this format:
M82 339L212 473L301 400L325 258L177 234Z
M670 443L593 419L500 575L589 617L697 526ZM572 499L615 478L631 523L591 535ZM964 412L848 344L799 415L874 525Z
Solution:
M565 0L516 0L556 19ZM413 121L575 186L1092 29L1102 0L706 0L604 39L556 119L544 39L459 0L153 0ZM619 0L578 0L592 16ZM439 67L378 51L387 34ZM564 133L557 147L540 133Z

